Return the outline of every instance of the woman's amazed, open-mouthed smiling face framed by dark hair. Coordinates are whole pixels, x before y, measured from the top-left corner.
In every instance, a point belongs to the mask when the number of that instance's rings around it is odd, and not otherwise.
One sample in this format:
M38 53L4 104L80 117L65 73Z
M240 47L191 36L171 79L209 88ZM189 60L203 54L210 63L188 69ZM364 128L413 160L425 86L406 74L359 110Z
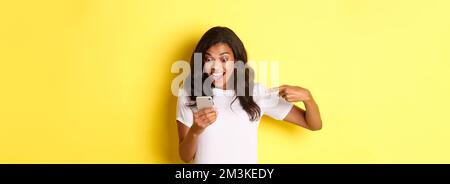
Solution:
M211 46L205 54L204 71L212 76L214 86L226 89L226 83L234 70L234 55L225 43Z

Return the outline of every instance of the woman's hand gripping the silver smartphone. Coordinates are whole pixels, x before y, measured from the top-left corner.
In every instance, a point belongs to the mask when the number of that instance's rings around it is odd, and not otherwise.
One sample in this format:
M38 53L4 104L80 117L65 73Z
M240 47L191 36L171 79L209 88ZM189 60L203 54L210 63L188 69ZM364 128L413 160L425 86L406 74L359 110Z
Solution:
M200 135L206 127L216 121L216 118L217 113L213 107L194 112L194 124L190 128L191 133Z

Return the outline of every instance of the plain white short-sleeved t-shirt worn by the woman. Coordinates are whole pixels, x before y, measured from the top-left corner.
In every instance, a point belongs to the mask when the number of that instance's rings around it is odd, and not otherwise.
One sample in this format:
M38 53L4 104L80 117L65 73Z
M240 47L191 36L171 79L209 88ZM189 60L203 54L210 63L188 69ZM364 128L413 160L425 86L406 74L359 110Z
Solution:
M213 88L212 91L217 119L199 135L194 163L257 163L260 118L257 121L250 121L238 99L230 107L235 98L234 90ZM293 106L260 84L254 85L253 95L254 101L261 109L261 116L265 114L282 120ZM177 104L177 120L187 127L191 127L194 120L193 109L186 105L189 101L187 92L181 89Z

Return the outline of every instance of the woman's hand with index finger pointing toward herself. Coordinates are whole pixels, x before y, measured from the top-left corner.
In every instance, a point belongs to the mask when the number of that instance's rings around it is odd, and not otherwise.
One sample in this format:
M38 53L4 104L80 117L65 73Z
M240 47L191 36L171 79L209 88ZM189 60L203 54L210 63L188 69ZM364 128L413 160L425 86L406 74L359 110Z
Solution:
M308 89L299 86L282 85L276 89L279 90L279 95L288 102L307 102L313 99Z

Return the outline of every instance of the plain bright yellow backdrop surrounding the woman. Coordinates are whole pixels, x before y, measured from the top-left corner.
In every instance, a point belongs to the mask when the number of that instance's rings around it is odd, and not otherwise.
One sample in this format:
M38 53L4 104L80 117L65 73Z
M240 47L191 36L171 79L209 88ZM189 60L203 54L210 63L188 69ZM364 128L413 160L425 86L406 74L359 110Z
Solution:
M450 1L0 2L0 163L180 163L172 63L210 27L311 90L261 163L450 163Z

